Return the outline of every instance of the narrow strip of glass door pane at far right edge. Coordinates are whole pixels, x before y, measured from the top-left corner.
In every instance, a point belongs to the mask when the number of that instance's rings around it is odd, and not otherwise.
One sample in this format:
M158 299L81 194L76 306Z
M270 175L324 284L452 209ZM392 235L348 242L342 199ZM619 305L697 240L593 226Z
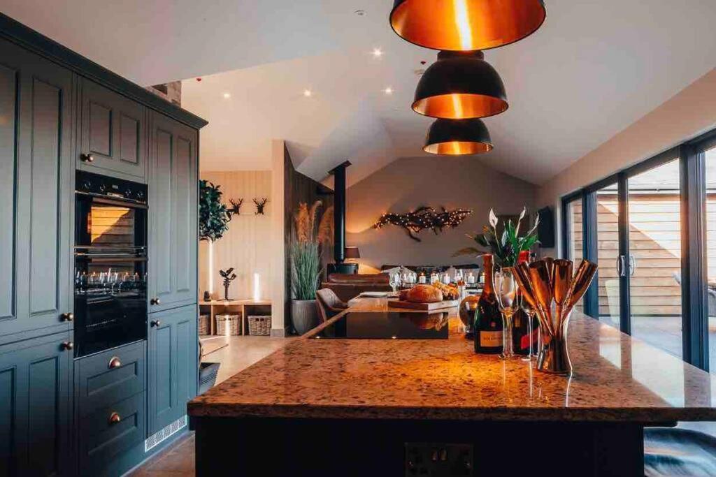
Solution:
M709 370L716 372L716 147L706 151L706 251Z

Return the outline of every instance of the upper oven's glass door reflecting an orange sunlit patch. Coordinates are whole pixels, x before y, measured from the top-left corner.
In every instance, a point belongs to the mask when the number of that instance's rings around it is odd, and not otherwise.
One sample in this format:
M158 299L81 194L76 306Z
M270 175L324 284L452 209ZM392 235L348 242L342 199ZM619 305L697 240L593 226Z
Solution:
M146 252L145 204L77 192L74 217L75 250Z

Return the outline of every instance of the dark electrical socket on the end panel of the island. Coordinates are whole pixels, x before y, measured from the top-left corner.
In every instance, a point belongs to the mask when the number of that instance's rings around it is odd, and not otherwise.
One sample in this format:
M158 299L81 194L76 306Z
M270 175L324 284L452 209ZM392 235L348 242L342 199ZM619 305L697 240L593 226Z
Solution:
M406 477L469 477L475 464L472 444L405 443Z

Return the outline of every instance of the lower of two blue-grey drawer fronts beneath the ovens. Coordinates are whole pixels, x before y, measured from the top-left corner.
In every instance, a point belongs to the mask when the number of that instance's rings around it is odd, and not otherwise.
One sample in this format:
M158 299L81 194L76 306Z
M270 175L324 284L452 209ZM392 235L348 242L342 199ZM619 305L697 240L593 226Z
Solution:
M144 440L145 393L106 406L79 421L79 469L100 475L102 468Z

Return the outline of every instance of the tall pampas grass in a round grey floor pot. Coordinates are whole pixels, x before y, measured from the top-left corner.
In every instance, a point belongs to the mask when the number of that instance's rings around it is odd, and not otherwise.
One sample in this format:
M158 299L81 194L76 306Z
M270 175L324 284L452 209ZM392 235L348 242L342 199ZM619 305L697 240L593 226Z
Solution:
M301 202L294 215L294 233L291 237L291 321L294 330L303 335L318 325L316 290L321 280L321 244L332 237L333 208L321 217L316 230L316 219L321 201L316 200L309 209Z

